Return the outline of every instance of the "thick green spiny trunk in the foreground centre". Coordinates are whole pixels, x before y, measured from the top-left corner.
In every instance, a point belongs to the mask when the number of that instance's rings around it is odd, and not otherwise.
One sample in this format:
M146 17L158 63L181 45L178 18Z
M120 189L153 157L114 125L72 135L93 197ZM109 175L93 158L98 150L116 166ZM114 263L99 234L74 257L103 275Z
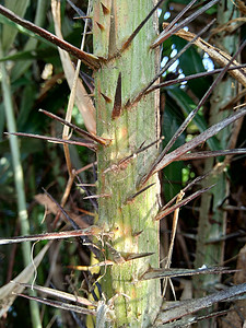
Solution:
M147 145L160 138L157 94L147 95L131 109L124 108L156 74L157 52L150 49L156 36L156 17L151 17L122 49L152 8L153 2L149 0L136 1L133 5L130 0L94 1L94 55L104 58L95 72L97 134L112 139L109 145L99 145L97 152L98 194L107 195L98 199L99 224L114 233L108 242L116 249L114 254L104 241L105 257L115 261L102 270L101 279L106 303L114 302L110 327L148 327L156 317L161 302L160 283L139 280L150 266L159 267L159 223L153 221L159 209L157 176L148 181L154 183L151 188L132 197L139 191L138 179L157 154L157 145L117 165L143 142ZM122 51L119 54L118 49ZM154 254L125 261L120 257L122 251Z

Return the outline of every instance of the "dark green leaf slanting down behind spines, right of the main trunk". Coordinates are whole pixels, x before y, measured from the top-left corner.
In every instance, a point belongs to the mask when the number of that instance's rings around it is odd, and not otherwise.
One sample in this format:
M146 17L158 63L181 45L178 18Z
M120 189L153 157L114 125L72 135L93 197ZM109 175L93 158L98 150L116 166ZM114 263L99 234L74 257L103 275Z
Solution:
M194 101L188 96L188 94L185 91L183 91L179 87L168 89L167 94L176 102L176 104L180 107L185 116L188 116L189 113L196 107ZM206 119L200 112L195 116L194 122L196 124L200 132L203 132L208 129ZM220 142L216 137L210 138L207 142L211 150L221 149Z

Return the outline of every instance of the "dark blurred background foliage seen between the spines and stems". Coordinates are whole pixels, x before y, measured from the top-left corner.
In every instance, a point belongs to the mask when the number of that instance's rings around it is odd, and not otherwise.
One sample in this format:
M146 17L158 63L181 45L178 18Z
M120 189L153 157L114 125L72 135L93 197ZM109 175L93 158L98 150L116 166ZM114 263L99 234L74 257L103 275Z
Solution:
M2 3L1 1L0 3ZM178 12L188 3L188 0L165 1L160 8L160 30L162 23L171 22ZM231 20L234 15L243 16L245 12L238 9L238 5L230 2ZM78 0L73 3L86 12L87 1ZM238 4L239 1L236 2ZM5 7L10 8L19 15L24 16L31 22L45 27L54 33L54 22L50 12L50 3L47 0L42 1L4 1ZM16 4L20 4L16 5ZM132 3L133 5L133 3ZM188 31L196 33L201 27L218 16L218 7L212 7L209 11L200 15L195 22L187 27ZM62 15L62 33L65 39L72 45L80 47L81 33L83 31L83 20L74 19L78 13L66 1L61 1ZM38 109L46 109L58 116L65 117L68 98L70 94L69 86L65 79L62 66L60 62L57 48L51 44L42 40L39 37L32 37L26 34L23 28L17 28L14 23L11 23L2 15L0 15L0 33L1 33L1 62L4 65L7 74L10 79L11 99L13 105L15 128L19 132L28 132L43 136L61 137L62 126L38 113ZM223 22L220 22L223 24ZM226 50L226 45L221 44L225 37L233 39L234 46L229 50L231 55L235 52L238 45L246 38L246 26L242 22L236 23L234 30L227 31L222 28L218 37L211 32L202 37L209 39L211 44L219 46ZM219 44L216 44L219 43ZM177 36L168 38L162 47L161 62L164 66L168 59L173 58L186 44L186 42ZM85 50L93 52L92 35L87 35ZM245 62L246 50L241 54L238 61ZM75 60L74 60L75 62ZM178 61L176 61L169 70L162 77L163 81L174 80L189 74L206 72L212 70L215 63L197 47L189 48ZM84 81L92 77L92 72L82 65ZM1 79L2 79L1 73ZM230 84L229 94L224 94L220 98L219 114L221 109L226 109L226 115L232 110L233 106L245 102L244 96L239 99L236 95L244 94L241 85L231 78L224 79ZM171 137L177 130L187 114L195 107L198 99L206 93L211 85L213 77L204 77L189 82L169 85L161 89L161 115L162 115L162 133L165 136L164 144L168 142ZM225 81L224 81L225 82ZM87 83L87 92L91 93L90 87L93 83ZM3 89L2 89L3 90ZM223 87L225 92L225 87ZM227 91L226 91L227 92ZM214 97L214 95L213 95ZM17 195L14 185L14 168L12 162L12 154L9 143L9 138L3 134L9 130L7 124L7 115L4 112L3 95L0 98L0 236L17 236L22 234L22 227L19 221ZM190 124L187 131L183 133L176 147L190 140L199 132L203 131L206 127L211 125L211 110L213 108L212 101L207 102L202 109ZM219 115L216 114L216 115ZM77 107L73 110L73 122L82 128L83 119ZM208 143L208 149L216 150L223 149L229 144L230 137L234 133L236 142L234 147L245 147L245 129L246 122L241 122L237 131L227 130L227 136L219 136L212 138ZM226 139L225 143L223 143ZM17 144L20 149L20 160L24 173L24 194L25 206L27 210L30 234L37 234L42 232L50 232L56 229L56 213L52 212L51 207L44 199L44 187L52 197L59 202L62 199L66 185L68 181L68 173L65 162L63 150L60 144L46 142L43 140L31 138L19 138ZM203 147L203 149L206 145ZM90 163L95 162L95 154L82 147L71 147L71 160L77 169L85 167ZM224 161L219 159L212 160L210 169ZM175 162L166 167L161 176L162 179L162 198L163 201L168 201L185 186L191 178L201 175L204 172L204 160ZM206 265L220 265L236 268L238 253L245 245L245 229L246 229L246 175L245 175L245 156L236 156L226 163L224 168L224 184L225 192L220 195L218 199L216 209L223 213L223 229L218 232L214 238L222 241L219 243L222 255L218 259L211 259L204 262ZM86 168L86 167L85 167ZM81 180L87 184L95 184L96 166L91 165L87 169L80 173ZM221 185L220 185L221 186ZM197 187L195 187L197 188ZM220 187L221 188L221 187ZM94 194L95 187L90 187ZM192 192L195 190L190 190ZM91 224L93 222L93 206L89 200L84 200L84 191L75 185L72 187L68 198L66 209L73 215L81 220L81 225ZM210 195L214 198L214 195ZM211 199L204 200L207 203L206 220L211 219L214 213L214 206ZM45 206L44 206L45 204ZM201 199L195 200L192 203L186 206L180 212L180 220L175 244L173 267L192 268L195 265L196 254L200 249L196 248L196 239L198 236L199 220L201 220ZM209 204L209 207L208 207ZM226 214L224 216L224 214ZM79 222L79 221L78 221ZM161 256L167 254L168 238L172 227L172 220L164 219L161 225ZM44 242L43 242L44 243ZM38 253L40 245L35 246L35 253ZM56 259L54 259L56 257ZM56 267L52 267L52 261L56 261ZM208 262L209 261L209 262ZM4 285L12 278L14 278L23 268L23 254L20 244L10 246L1 246L0 248L0 285ZM85 283L85 274L83 271L78 271L69 268L69 266L89 265L90 253L87 249L79 247L77 242L63 241L50 248L49 254L44 258L42 266L38 268L37 284L45 285L47 277L49 282L57 289L86 294L89 289ZM241 265L243 266L243 265ZM244 266L246 263L244 262ZM50 272L50 268L52 271ZM51 274L51 276L49 276ZM83 283L84 284L83 284ZM195 281L195 285L198 282ZM200 282L202 283L202 282ZM223 280L218 280L216 284L220 286L233 283L233 276L223 277ZM191 282L184 280L174 281L177 297L191 291ZM201 286L202 284L200 284ZM218 286L218 285L216 285ZM213 285L213 289L215 285ZM203 291L204 293L207 291ZM172 293L169 294L172 298ZM31 316L27 306L28 301L17 297L10 308L8 315L2 318L1 327L31 327ZM222 305L221 308L224 308ZM60 315L57 309L52 307L40 306L43 327L75 327L74 319L69 313ZM244 312L246 314L246 312ZM239 327L239 326L236 326Z

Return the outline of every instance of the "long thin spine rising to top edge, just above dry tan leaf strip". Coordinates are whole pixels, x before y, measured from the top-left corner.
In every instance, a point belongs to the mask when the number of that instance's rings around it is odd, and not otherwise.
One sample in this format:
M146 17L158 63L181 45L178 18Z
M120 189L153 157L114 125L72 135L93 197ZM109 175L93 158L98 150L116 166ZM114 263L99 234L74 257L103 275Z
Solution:
M206 5L202 5L201 9L199 9L198 11L196 11L195 13L192 13L190 16L188 16L187 19L185 19L183 22L180 22L179 24L173 26L173 27L168 27L164 30L159 37L156 38L156 40L152 44L152 48L157 47L160 44L162 44L167 37L169 37L171 35L175 34L178 30L180 30L181 27L186 26L187 24L189 24L190 22L192 22L196 17L198 17L201 13L203 13L204 11L207 11L209 8L211 8L213 4L215 4L219 0L212 0L209 3L207 3ZM192 1L191 1L192 3ZM195 3L195 1L194 1ZM190 7L190 3L188 4L188 7ZM189 9L189 8L188 8ZM183 12L184 14L185 12ZM181 14L181 15L183 15ZM180 15L180 16L181 16ZM171 23L172 24L172 23ZM169 25L169 24L168 24ZM165 25L164 25L165 26Z

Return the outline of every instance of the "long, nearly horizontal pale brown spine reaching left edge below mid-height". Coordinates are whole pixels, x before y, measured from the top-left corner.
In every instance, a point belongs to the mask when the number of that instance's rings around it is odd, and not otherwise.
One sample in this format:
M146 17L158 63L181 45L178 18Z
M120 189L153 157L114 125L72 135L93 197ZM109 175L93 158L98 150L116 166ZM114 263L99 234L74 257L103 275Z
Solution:
M62 231L55 233L45 233L31 236L17 236L12 238L0 238L0 245L15 244L23 242L36 242L36 241L54 241L54 239L63 239L72 237L82 237L82 236L96 236L102 235L102 230L98 226L90 226L83 230L75 231Z

